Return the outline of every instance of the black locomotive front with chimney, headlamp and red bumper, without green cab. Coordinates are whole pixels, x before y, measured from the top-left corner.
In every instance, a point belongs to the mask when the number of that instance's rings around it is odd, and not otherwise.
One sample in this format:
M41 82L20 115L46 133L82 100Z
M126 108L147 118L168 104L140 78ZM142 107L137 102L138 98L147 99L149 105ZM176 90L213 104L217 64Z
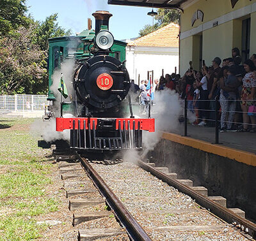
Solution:
M74 115L65 117L65 102L60 103L56 131L70 129L71 149L141 149L142 131L154 132L154 119L134 118L125 61L113 56L115 40L108 31L111 16L108 11L93 13L95 34L82 40L83 55L88 55L77 61L74 71ZM125 109L129 110L128 116Z

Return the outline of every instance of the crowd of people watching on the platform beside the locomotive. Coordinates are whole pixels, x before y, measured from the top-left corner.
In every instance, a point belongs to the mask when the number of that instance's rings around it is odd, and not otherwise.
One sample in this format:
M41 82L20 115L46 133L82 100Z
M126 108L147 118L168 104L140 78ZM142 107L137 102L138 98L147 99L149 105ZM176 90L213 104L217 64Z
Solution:
M214 126L217 109L221 132L256 132L256 54L241 64L239 49L233 48L232 57L222 61L215 57L212 66L203 61L200 71L193 69L192 62L189 64L183 77L172 73L154 80L154 91L168 88L176 91L180 99L186 98L188 110L196 115L195 125ZM148 80L141 81L144 112L150 101L147 86Z

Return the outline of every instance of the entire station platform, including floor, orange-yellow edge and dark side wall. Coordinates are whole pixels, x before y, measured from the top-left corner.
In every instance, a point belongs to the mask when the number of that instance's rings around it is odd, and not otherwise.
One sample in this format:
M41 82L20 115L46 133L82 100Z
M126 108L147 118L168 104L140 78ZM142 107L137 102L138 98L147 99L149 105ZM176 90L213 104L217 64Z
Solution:
M214 144L214 128L189 124L189 136L182 136L180 124L175 132L162 132L148 159L168 167L179 179L204 186L209 196L225 197L227 207L238 207L255 220L256 133L220 133L222 144Z

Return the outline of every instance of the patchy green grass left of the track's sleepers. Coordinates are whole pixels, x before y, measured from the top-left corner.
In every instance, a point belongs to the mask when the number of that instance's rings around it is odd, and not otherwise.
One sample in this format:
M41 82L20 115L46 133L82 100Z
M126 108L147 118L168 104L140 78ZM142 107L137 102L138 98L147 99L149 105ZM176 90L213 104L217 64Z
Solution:
M49 150L37 147L39 136L29 128L34 119L0 119L0 240L31 240L46 225L36 217L58 210L58 198L48 189Z

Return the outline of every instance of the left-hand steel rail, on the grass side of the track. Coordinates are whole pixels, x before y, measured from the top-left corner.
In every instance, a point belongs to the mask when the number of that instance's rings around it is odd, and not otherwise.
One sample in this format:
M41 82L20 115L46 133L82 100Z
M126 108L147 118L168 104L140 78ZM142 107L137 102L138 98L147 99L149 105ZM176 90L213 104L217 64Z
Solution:
M100 193L106 198L109 207L115 212L118 220L124 225L129 237L132 240L152 240L148 234L141 228L140 224L132 217L130 212L124 207L123 203L117 198L115 193L107 186L104 180L93 169L88 161L77 154L77 159L81 161L84 169L89 177L93 180L95 185L99 188Z

